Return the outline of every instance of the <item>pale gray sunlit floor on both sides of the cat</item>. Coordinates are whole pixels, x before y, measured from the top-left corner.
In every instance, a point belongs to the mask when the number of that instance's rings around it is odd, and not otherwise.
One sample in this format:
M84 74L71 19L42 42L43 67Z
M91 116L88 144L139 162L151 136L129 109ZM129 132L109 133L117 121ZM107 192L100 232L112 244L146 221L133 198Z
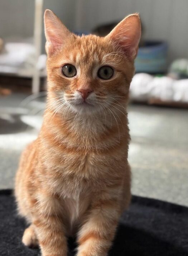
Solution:
M44 98L25 97L0 99L0 189L13 188L20 152L42 122ZM188 206L188 110L130 105L129 122L132 193Z

